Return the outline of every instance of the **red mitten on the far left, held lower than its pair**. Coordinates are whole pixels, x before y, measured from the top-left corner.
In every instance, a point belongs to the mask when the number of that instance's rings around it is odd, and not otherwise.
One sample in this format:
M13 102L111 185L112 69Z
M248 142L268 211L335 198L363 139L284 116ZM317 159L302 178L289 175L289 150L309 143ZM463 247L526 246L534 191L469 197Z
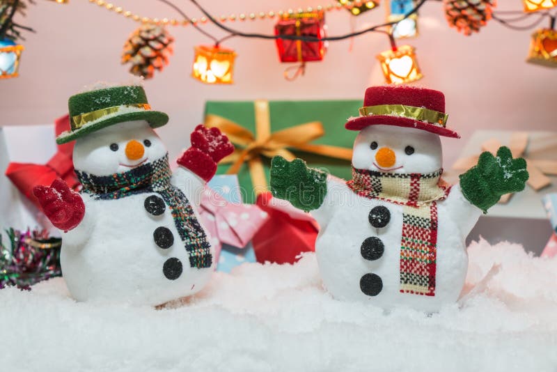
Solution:
M36 186L33 195L38 199L42 211L57 228L68 231L79 225L85 215L85 204L77 192L58 178L48 186Z

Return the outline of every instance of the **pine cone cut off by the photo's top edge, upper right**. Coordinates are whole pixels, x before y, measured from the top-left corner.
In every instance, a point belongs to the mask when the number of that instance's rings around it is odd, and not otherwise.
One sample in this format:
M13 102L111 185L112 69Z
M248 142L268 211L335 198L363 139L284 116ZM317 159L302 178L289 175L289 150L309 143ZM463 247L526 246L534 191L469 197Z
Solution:
M470 36L491 19L496 0L443 0L445 16L451 27Z

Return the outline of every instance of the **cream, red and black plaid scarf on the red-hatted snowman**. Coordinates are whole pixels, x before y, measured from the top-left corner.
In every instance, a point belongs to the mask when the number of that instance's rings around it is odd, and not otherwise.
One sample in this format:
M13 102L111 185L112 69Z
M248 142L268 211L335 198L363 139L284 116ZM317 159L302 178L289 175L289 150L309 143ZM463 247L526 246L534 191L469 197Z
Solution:
M437 201L446 199L442 169L432 173L384 173L352 168L346 184L356 194L401 204L400 292L435 295Z

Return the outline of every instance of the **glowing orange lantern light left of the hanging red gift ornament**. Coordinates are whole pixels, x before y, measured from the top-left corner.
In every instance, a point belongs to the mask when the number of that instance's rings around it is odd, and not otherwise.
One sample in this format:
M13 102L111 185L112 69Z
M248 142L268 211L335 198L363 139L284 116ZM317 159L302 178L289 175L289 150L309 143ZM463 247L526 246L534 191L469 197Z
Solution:
M233 84L236 53L214 45L198 45L194 48L194 65L191 76L205 84Z

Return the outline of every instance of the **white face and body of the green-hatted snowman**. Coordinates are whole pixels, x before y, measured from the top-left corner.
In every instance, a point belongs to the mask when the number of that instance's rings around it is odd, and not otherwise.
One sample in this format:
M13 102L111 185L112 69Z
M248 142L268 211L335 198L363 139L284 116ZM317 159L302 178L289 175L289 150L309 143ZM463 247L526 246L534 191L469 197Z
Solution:
M131 141L143 147L141 157L136 158L137 152L132 159L127 157ZM164 144L146 121L130 121L77 139L74 166L95 176L109 176L165 155ZM200 221L203 180L179 167L171 183L185 194ZM210 279L212 268L190 267L171 210L156 192L111 200L86 193L81 196L86 206L84 219L63 233L61 251L63 277L76 300L157 305L196 293ZM157 202L156 213L147 207L148 198ZM157 228L173 235L170 247L159 247L154 235ZM169 263L174 268L180 265L180 274L174 270L171 279L163 270Z

